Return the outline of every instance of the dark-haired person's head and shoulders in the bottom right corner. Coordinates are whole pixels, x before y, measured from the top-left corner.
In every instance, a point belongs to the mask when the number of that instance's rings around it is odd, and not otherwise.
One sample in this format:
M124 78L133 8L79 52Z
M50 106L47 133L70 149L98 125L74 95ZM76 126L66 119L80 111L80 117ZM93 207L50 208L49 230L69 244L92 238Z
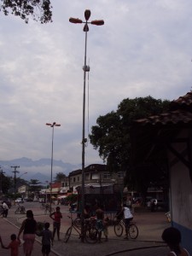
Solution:
M176 228L167 228L162 234L163 241L166 242L168 247L170 247L170 253L168 256L189 256L188 251L180 246L181 233Z

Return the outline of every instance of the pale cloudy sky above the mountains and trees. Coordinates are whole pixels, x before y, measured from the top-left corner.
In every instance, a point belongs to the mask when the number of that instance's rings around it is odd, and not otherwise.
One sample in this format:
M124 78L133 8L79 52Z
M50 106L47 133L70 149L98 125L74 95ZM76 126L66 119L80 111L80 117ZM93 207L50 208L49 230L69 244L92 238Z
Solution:
M53 22L40 24L0 13L0 162L50 158L81 163L84 86L83 24L87 41L85 137L96 119L125 98L175 100L191 90L190 0L52 0ZM89 88L89 90L88 90ZM103 163L87 143L85 166Z

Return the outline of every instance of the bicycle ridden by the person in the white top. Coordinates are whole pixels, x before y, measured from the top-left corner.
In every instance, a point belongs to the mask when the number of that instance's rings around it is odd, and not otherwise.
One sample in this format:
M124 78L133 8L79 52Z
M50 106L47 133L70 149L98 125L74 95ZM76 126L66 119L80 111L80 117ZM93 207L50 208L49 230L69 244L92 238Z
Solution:
M114 234L116 236L122 236L123 232L125 230L125 222L123 219L119 219L115 224L114 224ZM128 226L128 235L130 236L131 239L136 239L138 236L138 228L137 225L134 222L130 222Z

